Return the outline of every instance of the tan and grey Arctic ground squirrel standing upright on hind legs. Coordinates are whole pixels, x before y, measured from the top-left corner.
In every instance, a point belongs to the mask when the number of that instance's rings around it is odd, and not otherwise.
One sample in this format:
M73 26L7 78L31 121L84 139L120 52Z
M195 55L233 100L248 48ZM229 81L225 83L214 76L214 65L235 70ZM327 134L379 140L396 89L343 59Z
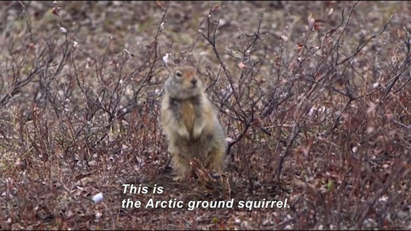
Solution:
M191 66L176 66L164 84L161 123L177 179L190 175L190 161L222 170L227 143L203 82Z

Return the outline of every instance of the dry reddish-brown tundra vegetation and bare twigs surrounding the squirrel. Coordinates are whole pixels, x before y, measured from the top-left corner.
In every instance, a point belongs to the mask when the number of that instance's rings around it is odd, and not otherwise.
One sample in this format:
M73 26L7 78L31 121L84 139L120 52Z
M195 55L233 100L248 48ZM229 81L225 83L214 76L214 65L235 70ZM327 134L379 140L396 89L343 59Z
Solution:
M410 2L0 9L0 229L411 229ZM218 177L198 166L172 180L168 53L197 65L220 112ZM164 193L124 195L125 183ZM290 208L121 208L152 197Z

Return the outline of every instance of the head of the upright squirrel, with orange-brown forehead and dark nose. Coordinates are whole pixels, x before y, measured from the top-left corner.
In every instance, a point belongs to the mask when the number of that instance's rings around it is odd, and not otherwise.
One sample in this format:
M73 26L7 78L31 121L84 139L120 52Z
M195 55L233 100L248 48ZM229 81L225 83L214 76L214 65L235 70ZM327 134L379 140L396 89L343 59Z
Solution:
M201 94L204 89L194 67L177 66L166 82L166 90L173 98L187 99Z

